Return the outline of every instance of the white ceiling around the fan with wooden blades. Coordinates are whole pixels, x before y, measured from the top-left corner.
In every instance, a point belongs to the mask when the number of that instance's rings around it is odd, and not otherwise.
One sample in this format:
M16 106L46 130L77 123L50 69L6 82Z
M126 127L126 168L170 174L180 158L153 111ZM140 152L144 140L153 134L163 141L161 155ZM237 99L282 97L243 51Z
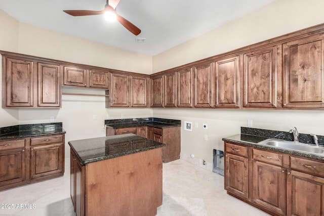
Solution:
M72 17L63 10L102 10L106 0L1 0L20 22L154 56L275 0L120 0L116 11L142 32L135 36L102 15ZM146 38L145 43L135 42Z

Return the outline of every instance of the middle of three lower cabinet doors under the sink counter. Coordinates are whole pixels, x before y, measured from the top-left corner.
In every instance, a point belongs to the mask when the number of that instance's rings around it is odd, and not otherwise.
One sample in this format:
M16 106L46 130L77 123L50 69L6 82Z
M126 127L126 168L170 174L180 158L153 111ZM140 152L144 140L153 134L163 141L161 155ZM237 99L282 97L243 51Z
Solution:
M286 171L260 161L253 161L252 202L277 214L286 214Z

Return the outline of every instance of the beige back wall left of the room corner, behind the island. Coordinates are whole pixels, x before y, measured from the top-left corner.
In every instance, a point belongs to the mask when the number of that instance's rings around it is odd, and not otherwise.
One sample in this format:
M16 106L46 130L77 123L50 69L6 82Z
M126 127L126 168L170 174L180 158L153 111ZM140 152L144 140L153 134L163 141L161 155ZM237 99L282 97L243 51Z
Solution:
M150 56L20 23L2 10L0 28L0 50L144 74L152 72ZM77 91L103 94L103 90ZM67 144L70 140L105 136L103 125L107 114L111 119L120 118L121 114L124 118L152 116L152 109L106 109L104 100L104 97L63 95L61 109L0 108L0 127L49 122L53 116L55 122L63 122ZM69 157L68 145L65 152Z

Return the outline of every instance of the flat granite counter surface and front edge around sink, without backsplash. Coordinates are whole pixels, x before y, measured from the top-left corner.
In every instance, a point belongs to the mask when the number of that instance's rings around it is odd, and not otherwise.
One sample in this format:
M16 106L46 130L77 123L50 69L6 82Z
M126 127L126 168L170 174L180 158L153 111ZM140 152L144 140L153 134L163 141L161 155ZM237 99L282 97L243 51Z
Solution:
M223 138L222 140L231 142L231 143L235 143L235 144L244 145L244 146L250 146L250 147L255 147L255 148L259 148L259 149L271 150L271 151L275 151L275 152L291 154L291 155L296 155L296 156L307 157L307 158L324 161L324 156L310 154L310 153L306 153L306 152L294 151L294 150L289 150L289 149L280 149L280 148L275 148L275 147L271 147L271 146L265 146L265 145L258 144L259 142L269 139L269 138L270 137L261 137L261 136L255 136L255 135L249 135L249 134L236 134L236 135L233 135L230 137Z

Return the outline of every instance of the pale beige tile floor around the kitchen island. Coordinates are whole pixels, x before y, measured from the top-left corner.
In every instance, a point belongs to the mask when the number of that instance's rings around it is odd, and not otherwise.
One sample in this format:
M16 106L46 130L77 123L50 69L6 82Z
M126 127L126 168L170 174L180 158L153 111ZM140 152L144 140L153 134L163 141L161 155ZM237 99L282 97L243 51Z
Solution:
M75 215L70 198L69 172L68 159L65 161L65 174L61 178L0 192L0 215ZM10 205L5 206L5 204L11 204L13 208L9 209ZM224 190L224 177L214 172L181 159L165 163L163 164L163 205L157 209L157 216L189 215L262 216L268 214L227 195Z

